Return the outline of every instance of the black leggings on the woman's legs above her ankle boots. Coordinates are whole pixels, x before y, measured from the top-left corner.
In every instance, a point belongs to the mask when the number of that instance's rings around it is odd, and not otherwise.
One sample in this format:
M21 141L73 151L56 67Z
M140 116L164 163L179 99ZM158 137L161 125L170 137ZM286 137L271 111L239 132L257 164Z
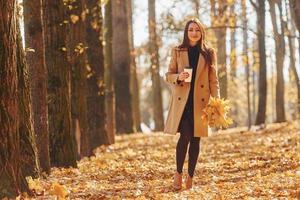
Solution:
M189 117L183 115L179 125L179 131L180 137L176 146L177 172L182 173L187 146L190 143L188 173L190 177L193 177L200 149L200 137L194 137L193 119L190 119Z

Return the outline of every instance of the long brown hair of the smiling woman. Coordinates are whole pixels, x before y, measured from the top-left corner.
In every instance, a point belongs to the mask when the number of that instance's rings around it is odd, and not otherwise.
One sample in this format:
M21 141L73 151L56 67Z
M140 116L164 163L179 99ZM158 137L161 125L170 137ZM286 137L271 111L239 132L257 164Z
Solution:
M182 43L178 46L179 49L186 49L190 46L190 40L188 38L188 29L189 29L189 25L191 23L195 23L199 26L200 29L200 33L201 33L201 38L198 41L199 42L199 46L200 46L200 53L203 54L205 61L209 64L212 65L212 49L208 48L207 44L206 44L206 40L205 40L205 29L204 29L204 25L200 22L199 19L197 18L193 18L190 19L186 22L185 24L185 28L184 28L184 33L183 33L183 40Z

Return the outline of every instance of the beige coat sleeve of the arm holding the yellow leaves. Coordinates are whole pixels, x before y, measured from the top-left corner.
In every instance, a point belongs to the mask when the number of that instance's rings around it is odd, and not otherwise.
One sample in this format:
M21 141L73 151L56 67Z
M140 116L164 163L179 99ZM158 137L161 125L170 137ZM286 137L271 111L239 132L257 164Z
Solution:
M220 98L220 86L218 80L218 62L217 54L215 50L211 50L212 55L212 65L209 69L209 89L212 97Z

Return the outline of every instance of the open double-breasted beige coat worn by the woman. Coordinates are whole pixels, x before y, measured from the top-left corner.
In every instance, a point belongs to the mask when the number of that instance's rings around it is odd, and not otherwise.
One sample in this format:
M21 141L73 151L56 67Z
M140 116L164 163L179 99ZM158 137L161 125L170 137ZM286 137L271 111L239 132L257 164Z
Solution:
M205 63L203 55L200 53L194 87L194 137L207 137L208 125L201 119L203 109L207 105L210 96L219 98L219 82L217 77L217 59L213 51L212 66ZM168 117L164 132L176 134L179 122L188 99L190 83L177 83L177 77L184 67L189 66L187 49L172 49L172 57L166 73L166 81L171 88L171 99Z

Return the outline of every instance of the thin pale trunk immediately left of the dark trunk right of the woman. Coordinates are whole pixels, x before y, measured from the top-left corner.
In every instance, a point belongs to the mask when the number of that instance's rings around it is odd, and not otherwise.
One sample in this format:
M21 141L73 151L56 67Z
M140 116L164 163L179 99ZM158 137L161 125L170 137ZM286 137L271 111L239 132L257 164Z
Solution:
M245 65L246 71L246 84L247 84L247 112L248 112L248 129L251 127L251 102L250 102L250 66L249 66L249 56L248 56L248 19L246 12L246 0L241 0L242 7L242 20L243 20L243 64Z

